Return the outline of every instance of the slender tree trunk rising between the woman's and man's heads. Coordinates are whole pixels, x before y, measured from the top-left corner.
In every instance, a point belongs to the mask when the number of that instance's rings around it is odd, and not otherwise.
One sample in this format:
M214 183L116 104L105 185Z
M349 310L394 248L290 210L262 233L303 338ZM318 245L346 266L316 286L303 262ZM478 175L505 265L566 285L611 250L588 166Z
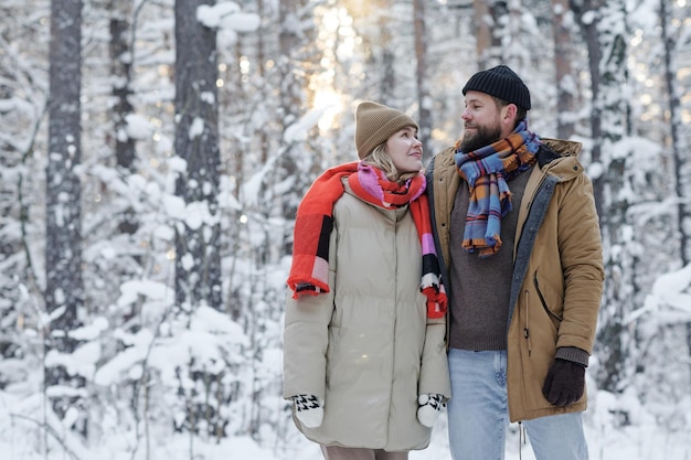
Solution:
M423 143L423 161L426 163L432 158L429 137L432 135L432 98L429 96L429 79L427 77L427 30L425 25L425 0L413 0L413 13L415 25L415 57L417 68L415 81L417 83L417 125L419 126L418 138Z

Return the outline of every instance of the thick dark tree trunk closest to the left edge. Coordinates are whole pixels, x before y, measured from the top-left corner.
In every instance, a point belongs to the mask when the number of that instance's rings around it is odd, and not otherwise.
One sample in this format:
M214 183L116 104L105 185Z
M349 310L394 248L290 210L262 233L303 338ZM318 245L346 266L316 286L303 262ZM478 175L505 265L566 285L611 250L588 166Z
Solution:
M49 157L45 207L45 306L52 317L46 338L51 354L70 354L78 345L71 332L81 325L82 278L81 162L82 1L51 2ZM73 429L86 436L84 400L77 388L84 377L63 364L47 365L45 386L53 409L64 417L76 407L82 416ZM65 392L60 388L71 388Z

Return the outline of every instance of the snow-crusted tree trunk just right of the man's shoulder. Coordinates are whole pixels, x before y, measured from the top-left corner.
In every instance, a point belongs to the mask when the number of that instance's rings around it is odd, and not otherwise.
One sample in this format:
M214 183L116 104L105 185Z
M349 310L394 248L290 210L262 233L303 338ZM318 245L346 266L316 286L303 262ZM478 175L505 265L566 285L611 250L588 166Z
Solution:
M617 145L627 135L626 7L621 0L582 0L577 13L591 62L592 159L602 168L593 179L605 244L605 293L596 341L602 360L598 382L616 392L621 389L630 357L624 317L634 308L634 259L624 235L630 228L627 211L631 203L624 193L628 152Z

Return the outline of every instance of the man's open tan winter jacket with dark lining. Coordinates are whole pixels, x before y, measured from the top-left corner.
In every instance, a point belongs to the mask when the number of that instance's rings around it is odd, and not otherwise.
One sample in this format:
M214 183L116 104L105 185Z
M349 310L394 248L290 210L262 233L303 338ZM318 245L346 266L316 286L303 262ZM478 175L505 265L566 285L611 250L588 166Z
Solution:
M539 163L518 210L507 331L511 421L585 410L586 394L576 404L557 408L542 396L542 386L554 357L570 357L557 354L557 347L560 353L577 347L592 354L603 292L602 240L593 185L575 157L581 145L543 141L549 148L538 153ZM442 274L449 279L445 276L449 267L449 220L460 184L453 148L432 160L427 183Z

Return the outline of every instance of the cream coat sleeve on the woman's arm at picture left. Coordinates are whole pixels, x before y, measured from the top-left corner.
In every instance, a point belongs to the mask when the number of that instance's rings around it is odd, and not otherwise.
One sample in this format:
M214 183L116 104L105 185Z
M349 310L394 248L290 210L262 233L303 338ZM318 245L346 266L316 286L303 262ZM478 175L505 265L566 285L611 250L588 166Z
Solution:
M333 313L336 231L329 245L329 292L293 299L288 292L284 329L284 398L308 394L325 399L329 323Z

